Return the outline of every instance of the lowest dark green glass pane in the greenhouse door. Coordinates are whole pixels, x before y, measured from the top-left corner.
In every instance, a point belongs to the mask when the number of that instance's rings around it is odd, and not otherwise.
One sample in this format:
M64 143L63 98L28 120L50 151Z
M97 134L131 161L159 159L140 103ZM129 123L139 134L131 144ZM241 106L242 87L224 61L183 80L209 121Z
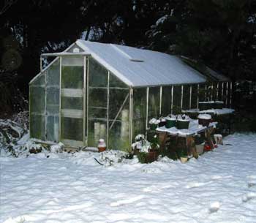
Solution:
M83 141L83 119L61 117L61 138Z

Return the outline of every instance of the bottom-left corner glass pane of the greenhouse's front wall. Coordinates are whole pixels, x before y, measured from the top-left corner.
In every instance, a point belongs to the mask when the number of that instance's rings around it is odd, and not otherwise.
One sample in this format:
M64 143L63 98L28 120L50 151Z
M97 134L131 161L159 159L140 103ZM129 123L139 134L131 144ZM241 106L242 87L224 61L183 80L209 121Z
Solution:
M30 137L45 140L45 116L30 115Z

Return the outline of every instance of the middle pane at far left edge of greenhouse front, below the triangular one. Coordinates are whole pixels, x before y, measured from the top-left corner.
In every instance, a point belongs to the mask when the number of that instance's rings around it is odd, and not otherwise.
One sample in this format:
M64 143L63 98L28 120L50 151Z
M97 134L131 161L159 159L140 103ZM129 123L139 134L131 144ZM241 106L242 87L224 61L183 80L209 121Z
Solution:
M30 86L29 94L30 112L45 113L45 87Z

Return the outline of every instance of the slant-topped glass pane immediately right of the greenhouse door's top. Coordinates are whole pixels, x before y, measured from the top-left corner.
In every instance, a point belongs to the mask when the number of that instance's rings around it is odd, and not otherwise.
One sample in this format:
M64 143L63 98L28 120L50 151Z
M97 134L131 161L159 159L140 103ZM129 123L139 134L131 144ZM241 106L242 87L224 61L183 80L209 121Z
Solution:
M89 86L108 87L108 70L89 57Z

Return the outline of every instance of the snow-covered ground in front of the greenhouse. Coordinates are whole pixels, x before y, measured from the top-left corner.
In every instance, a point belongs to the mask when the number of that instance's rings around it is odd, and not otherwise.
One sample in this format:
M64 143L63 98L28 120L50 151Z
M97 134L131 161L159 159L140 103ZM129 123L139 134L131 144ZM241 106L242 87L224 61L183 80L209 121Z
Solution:
M187 164L1 157L0 222L256 222L256 135L225 143Z

